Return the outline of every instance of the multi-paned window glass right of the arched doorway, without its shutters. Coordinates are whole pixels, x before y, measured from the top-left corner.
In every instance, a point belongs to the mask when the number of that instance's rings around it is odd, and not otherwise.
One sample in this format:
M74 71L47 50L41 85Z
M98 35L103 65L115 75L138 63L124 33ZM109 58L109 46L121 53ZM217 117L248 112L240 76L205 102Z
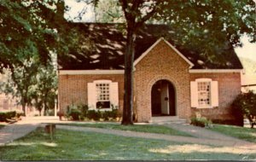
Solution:
M211 105L211 82L198 82L198 105L199 107L208 107Z

